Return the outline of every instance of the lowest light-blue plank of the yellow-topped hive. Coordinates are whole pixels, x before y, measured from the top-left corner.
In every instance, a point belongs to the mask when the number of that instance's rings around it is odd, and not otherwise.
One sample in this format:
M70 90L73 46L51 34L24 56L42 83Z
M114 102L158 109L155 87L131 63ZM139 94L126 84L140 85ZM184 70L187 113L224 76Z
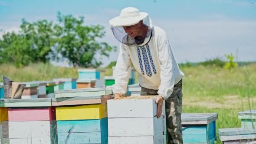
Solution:
M101 144L100 132L58 133L59 144Z

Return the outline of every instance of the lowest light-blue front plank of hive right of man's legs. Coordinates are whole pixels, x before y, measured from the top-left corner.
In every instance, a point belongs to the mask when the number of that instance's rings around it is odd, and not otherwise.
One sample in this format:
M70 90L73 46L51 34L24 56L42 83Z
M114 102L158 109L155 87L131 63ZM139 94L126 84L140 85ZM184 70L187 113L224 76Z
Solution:
M207 136L203 134L183 134L184 143L202 143L207 142Z

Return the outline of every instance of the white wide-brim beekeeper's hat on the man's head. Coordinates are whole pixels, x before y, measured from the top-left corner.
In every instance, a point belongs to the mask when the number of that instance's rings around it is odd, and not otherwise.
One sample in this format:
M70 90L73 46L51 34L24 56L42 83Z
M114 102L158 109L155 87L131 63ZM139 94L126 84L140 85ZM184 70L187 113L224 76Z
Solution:
M148 13L139 12L137 8L127 7L121 10L119 16L109 20L111 27L123 27L138 24L139 21L147 18Z

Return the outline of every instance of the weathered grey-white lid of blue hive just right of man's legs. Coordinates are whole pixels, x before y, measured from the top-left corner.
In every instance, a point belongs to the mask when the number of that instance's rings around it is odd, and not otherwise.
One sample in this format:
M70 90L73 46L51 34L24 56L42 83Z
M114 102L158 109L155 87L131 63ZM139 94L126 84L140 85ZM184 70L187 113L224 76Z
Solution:
M182 125L208 124L218 119L217 113L182 113Z

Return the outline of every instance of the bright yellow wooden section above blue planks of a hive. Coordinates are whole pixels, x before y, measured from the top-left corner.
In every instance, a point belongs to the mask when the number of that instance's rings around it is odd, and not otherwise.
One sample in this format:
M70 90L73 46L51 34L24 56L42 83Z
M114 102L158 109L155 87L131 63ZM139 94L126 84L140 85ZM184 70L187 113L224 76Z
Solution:
M56 107L56 120L90 120L107 117L107 104Z

